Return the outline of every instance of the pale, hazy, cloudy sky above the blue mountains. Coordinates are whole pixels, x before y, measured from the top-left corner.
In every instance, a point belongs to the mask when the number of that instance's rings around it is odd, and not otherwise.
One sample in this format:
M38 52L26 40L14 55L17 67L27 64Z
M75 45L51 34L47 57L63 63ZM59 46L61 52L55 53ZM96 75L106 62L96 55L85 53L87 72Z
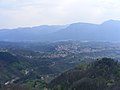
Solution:
M120 20L120 0L0 0L0 28Z

